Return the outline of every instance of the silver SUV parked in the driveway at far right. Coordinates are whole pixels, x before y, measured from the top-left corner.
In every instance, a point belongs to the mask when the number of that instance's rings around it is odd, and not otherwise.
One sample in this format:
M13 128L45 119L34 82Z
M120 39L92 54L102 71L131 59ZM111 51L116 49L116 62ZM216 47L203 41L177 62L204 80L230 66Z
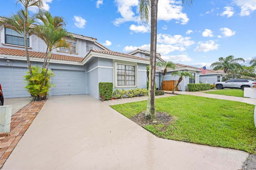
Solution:
M216 82L214 83L217 89L222 88L239 88L244 90L245 87L252 87L256 82L249 79L231 79L225 82Z

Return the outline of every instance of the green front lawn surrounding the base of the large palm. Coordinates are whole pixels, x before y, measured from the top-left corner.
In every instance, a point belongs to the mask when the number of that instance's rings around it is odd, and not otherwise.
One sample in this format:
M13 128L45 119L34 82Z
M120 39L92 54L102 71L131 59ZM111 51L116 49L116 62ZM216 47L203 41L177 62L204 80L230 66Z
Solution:
M129 118L145 111L146 102L111 107ZM177 95L159 98L156 99L156 111L168 113L174 117L174 121L171 121L166 131L162 130L162 125L147 125L144 128L165 139L256 154L254 107L242 102L200 96Z

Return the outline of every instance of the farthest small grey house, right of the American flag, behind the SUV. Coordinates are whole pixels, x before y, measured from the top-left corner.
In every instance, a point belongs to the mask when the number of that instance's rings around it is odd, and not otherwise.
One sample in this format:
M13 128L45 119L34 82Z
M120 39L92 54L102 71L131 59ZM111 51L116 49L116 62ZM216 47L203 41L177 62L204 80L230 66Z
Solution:
M214 84L216 82L222 82L222 78L226 75L227 73L224 73L223 70L214 71L206 69L206 74L202 74L202 72L200 72L199 80L202 83Z

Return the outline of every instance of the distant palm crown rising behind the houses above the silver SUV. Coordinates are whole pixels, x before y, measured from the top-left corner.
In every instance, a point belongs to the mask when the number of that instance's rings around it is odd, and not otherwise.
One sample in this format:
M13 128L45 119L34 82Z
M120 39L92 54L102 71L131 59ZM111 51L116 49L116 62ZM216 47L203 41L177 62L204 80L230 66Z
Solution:
M234 58L234 56L229 55L226 58L220 57L219 61L216 61L212 63L210 67L213 67L213 70L220 70L223 69L225 73L228 72L228 70L232 70L234 68L240 67L241 64L237 63L237 61L243 61L243 58Z

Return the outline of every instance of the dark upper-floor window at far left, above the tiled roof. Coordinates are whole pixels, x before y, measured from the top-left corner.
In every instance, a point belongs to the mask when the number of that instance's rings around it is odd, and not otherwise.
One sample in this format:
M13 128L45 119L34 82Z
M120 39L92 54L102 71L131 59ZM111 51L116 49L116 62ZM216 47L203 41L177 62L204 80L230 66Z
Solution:
M30 47L29 37L27 38L27 42L28 42L28 47ZM24 37L22 37L22 35L20 35L18 32L10 28L5 28L5 43L12 44L12 45L25 46Z

